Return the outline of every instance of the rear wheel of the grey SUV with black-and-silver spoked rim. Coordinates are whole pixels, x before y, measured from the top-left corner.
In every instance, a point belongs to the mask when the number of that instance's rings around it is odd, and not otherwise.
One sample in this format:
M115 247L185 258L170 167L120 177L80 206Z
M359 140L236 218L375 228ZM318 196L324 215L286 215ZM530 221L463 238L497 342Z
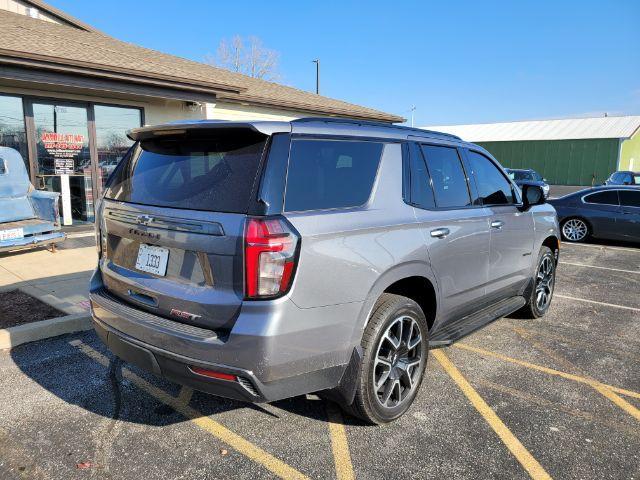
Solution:
M355 398L342 407L372 424L388 423L403 415L422 383L429 351L428 331L427 320L416 302L382 294L362 336Z

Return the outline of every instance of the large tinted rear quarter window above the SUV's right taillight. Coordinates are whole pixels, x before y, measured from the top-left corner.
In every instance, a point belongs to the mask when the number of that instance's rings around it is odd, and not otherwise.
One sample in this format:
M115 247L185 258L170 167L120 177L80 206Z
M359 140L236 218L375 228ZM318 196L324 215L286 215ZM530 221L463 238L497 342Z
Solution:
M291 142L285 209L289 212L364 205L378 171L382 143Z

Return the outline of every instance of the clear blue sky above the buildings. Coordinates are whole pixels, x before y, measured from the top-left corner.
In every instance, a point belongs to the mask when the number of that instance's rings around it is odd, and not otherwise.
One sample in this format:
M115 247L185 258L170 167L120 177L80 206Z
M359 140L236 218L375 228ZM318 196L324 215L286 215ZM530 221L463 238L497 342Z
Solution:
M640 114L639 0L49 0L124 41L203 61L257 36L281 83L447 125ZM179 8L177 8L179 6Z

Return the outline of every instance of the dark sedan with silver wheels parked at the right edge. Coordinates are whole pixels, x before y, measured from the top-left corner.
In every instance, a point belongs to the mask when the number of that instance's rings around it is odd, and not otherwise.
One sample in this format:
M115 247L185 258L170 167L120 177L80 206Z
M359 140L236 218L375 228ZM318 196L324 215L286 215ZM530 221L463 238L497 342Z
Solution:
M549 200L558 212L562 237L640 242L640 188L601 186Z

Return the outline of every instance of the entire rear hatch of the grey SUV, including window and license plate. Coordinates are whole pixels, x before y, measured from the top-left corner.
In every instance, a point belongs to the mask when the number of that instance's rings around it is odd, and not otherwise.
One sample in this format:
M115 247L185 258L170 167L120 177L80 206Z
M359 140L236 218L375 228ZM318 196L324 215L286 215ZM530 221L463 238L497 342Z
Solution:
M245 219L268 138L248 127L142 136L101 207L106 289L156 315L229 330L244 296Z

